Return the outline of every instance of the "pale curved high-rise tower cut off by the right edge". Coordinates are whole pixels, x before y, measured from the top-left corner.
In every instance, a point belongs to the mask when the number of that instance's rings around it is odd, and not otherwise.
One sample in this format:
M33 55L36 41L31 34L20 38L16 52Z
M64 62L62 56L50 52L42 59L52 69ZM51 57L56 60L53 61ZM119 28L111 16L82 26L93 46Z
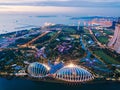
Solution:
M120 18L116 24L114 36L108 43L108 46L115 50L117 53L120 53Z

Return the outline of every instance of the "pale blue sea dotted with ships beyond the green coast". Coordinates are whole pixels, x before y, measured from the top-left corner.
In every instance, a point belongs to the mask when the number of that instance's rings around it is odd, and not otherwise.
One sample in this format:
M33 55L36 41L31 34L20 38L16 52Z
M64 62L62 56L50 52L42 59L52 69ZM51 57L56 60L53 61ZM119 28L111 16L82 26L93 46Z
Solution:
M44 23L77 24L66 15L0 14L0 34L43 26Z

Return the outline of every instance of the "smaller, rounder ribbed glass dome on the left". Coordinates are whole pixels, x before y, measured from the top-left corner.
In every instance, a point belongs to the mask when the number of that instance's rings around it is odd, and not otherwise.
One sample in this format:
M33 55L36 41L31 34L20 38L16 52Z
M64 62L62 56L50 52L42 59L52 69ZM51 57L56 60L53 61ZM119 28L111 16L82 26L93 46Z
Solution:
M44 64L39 62L31 63L27 69L29 75L34 78L44 78L47 77L49 70Z

